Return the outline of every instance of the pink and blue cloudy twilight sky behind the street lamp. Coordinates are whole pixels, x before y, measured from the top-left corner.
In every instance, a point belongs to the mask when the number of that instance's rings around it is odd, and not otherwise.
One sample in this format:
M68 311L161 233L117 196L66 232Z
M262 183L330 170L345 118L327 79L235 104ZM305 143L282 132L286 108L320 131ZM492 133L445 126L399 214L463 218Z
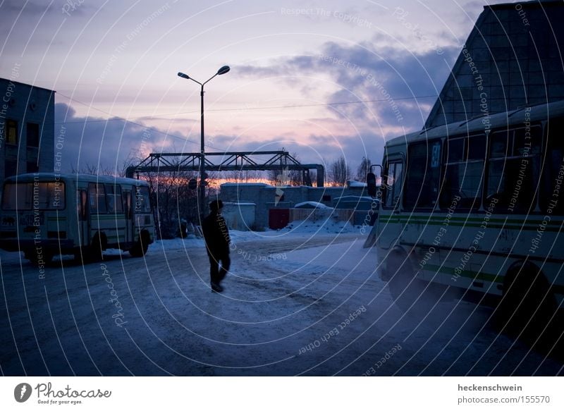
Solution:
M56 91L63 168L286 149L381 162L422 128L484 5L507 1L0 0L0 77Z

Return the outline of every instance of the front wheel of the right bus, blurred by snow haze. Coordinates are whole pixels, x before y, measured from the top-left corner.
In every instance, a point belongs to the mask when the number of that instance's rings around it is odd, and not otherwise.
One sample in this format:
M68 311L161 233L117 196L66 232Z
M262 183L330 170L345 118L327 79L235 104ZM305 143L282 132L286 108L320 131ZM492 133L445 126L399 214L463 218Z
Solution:
M410 317L426 316L439 301L434 287L415 277L405 254L393 254L388 267L388 288L393 302Z

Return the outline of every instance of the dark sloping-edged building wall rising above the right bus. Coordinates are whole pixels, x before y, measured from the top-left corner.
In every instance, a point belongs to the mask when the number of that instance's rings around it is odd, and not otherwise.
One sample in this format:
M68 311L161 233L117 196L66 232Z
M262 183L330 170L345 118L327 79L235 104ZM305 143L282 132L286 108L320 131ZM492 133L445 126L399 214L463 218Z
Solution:
M564 3L484 6L425 123L564 99Z

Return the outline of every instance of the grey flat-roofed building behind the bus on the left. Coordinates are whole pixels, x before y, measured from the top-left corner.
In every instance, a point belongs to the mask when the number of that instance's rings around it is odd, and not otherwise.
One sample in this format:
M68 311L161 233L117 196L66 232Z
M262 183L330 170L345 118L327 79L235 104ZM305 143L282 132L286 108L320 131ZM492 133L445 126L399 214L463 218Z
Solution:
M53 171L55 92L0 78L0 96L1 180Z

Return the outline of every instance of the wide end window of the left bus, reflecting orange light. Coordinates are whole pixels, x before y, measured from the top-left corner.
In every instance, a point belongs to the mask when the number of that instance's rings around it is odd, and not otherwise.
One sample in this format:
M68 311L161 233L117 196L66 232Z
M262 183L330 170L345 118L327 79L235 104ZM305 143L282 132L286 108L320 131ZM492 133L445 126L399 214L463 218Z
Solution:
M30 209L62 210L65 208L65 183L60 181L6 183L2 209L22 211Z

